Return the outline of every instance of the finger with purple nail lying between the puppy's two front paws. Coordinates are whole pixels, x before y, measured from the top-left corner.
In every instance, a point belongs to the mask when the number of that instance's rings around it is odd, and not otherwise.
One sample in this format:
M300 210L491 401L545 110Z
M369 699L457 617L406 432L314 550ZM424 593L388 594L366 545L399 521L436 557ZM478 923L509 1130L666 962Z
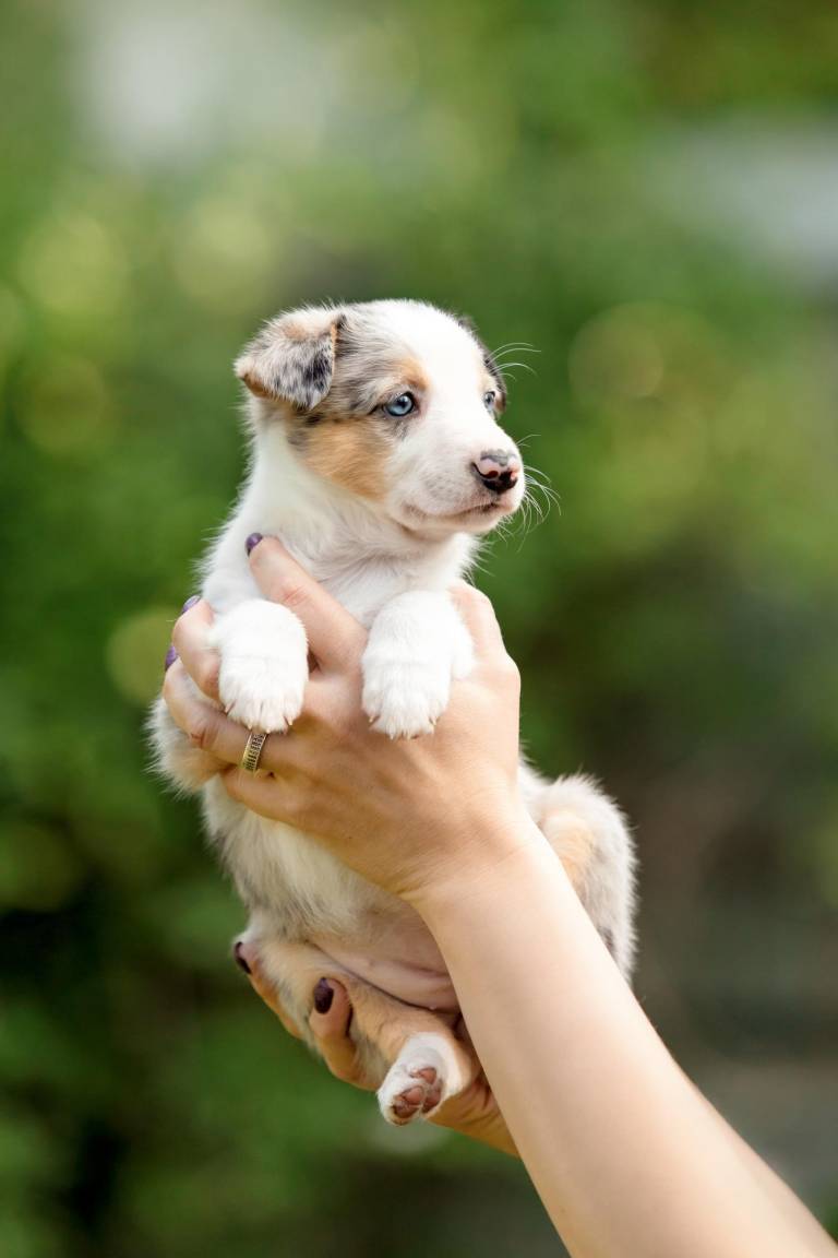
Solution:
M367 634L354 616L291 559L275 537L263 537L250 552L250 569L271 603L281 603L305 626L322 668L357 667Z

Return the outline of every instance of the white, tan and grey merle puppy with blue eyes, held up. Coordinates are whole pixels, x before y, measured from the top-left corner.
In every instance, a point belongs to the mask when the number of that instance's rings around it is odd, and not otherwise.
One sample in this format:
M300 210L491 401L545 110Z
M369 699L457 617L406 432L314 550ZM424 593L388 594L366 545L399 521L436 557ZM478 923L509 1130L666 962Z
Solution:
M259 596L246 561L245 538L261 532L368 626L362 702L374 728L432 735L452 681L472 663L446 591L525 492L520 454L499 424L506 390L495 360L466 322L382 301L281 314L235 370L249 390L251 465L202 589L224 708L251 730L284 731L303 706L305 633L293 611ZM456 996L418 916L313 839L230 800L162 699L152 726L165 774L202 791L250 911L248 938L288 1013L305 1029L318 980L340 977L384 1118L433 1113L479 1063L452 1034ZM526 765L520 774L533 818L628 976L633 855L621 814L587 779L548 782Z

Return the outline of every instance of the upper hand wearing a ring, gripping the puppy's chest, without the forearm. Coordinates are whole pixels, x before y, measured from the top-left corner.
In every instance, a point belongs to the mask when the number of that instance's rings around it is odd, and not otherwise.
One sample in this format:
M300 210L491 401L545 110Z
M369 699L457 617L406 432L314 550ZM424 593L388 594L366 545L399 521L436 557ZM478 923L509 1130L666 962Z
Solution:
M278 541L261 540L250 564L265 598L293 610L308 634L312 676L293 731L269 736L259 774L239 767L248 731L187 681L217 699L206 603L178 619L180 659L163 687L181 730L227 766L221 779L232 799L319 839L420 912L438 889L465 889L534 842L518 794L518 671L484 595L462 582L454 591L475 644L472 673L455 684L432 735L391 741L361 706L366 630Z

